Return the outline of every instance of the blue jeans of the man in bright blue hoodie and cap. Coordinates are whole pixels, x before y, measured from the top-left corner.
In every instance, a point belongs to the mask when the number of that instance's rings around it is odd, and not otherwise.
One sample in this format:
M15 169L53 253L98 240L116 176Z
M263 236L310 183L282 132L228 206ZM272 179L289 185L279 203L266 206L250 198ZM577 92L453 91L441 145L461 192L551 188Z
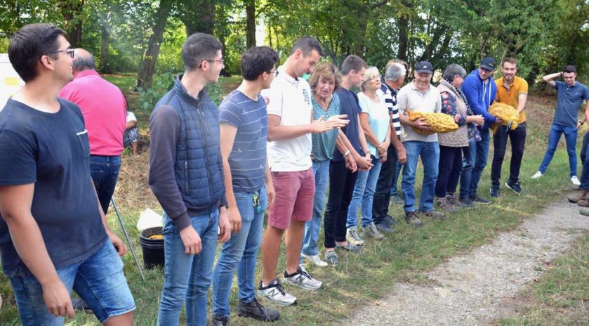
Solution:
M468 148L463 152L462 172L460 183L460 196L477 197L479 181L483 174L484 167L487 166L489 158L489 129L481 131L481 140L468 143Z

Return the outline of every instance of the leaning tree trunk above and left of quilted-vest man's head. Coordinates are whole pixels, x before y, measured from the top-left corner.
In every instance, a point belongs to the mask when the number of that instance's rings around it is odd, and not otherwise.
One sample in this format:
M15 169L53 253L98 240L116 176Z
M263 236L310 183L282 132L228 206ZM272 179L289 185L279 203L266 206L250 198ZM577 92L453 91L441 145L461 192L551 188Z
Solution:
M145 53L143 54L137 82L135 83L135 89L138 89L139 87L142 89L150 89L152 87L155 64L157 63L157 56L159 55L159 46L161 45L162 39L164 39L164 30L166 30L166 22L168 21L171 7L171 1L160 1L159 3L154 26L152 28L153 32L150 36L147 50L145 50Z

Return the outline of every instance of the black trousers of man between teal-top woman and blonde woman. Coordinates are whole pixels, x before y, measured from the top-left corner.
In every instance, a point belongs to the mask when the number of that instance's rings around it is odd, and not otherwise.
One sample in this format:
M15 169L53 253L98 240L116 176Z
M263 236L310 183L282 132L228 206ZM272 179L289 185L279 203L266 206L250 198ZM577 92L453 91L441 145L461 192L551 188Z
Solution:
M329 197L323 223L326 248L345 241L345 222L357 175L357 171L352 173L345 167L345 161L329 162Z

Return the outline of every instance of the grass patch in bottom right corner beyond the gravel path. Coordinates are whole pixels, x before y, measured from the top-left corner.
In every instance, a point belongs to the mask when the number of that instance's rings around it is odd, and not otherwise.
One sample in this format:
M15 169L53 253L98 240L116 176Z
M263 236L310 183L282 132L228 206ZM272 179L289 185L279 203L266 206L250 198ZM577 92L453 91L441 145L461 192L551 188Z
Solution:
M585 235L569 254L552 261L548 272L519 294L521 312L498 325L589 325L588 247Z

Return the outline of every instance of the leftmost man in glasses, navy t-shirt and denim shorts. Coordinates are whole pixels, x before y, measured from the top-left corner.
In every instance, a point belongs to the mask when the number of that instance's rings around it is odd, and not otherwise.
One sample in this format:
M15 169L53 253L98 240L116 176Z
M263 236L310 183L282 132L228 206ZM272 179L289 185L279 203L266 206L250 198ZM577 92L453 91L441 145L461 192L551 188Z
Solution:
M135 303L90 176L79 107L58 98L72 81L65 32L26 25L8 46L25 86L0 112L0 251L22 325L63 325L74 289L104 325L131 325ZM117 255L118 254L118 255Z

